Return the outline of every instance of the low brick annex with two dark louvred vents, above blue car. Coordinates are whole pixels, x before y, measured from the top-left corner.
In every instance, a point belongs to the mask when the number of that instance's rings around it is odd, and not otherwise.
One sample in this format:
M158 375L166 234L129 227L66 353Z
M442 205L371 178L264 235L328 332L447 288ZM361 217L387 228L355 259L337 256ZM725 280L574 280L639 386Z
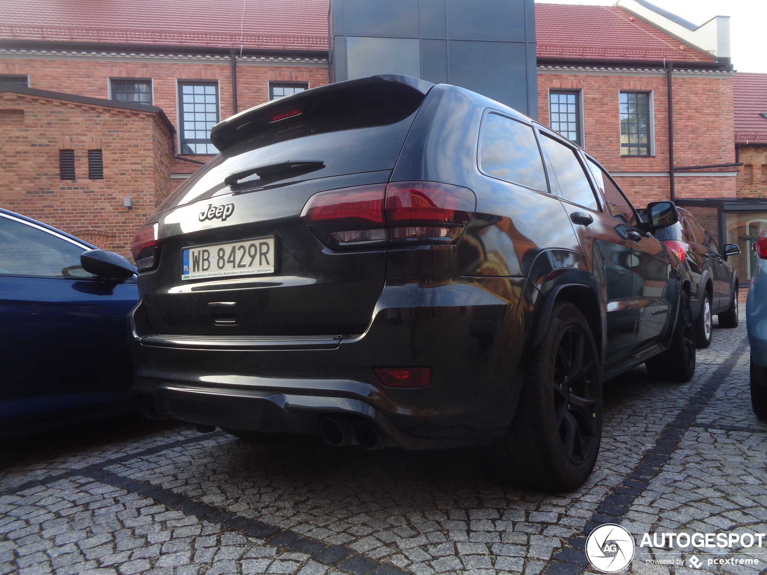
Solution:
M169 192L174 132L158 107L0 86L0 202L126 251Z

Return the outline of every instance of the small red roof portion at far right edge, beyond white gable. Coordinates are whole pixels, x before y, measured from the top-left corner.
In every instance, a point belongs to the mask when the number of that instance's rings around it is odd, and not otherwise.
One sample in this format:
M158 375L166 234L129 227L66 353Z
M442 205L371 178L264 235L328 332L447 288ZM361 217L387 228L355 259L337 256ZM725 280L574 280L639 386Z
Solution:
M735 141L767 143L767 74L738 72L733 81Z

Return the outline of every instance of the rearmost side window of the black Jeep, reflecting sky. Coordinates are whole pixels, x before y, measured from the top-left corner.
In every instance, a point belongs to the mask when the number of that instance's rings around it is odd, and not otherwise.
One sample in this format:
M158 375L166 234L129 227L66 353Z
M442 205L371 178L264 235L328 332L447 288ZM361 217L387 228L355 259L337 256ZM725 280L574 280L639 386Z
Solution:
M479 167L506 182L548 191L532 127L497 113L489 113L482 126Z

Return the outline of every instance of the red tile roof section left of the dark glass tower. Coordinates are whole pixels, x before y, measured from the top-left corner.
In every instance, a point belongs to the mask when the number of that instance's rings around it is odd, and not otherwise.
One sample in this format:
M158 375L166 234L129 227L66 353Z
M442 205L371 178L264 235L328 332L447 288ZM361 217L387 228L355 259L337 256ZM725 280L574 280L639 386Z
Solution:
M0 9L0 38L328 49L328 0L3 0Z

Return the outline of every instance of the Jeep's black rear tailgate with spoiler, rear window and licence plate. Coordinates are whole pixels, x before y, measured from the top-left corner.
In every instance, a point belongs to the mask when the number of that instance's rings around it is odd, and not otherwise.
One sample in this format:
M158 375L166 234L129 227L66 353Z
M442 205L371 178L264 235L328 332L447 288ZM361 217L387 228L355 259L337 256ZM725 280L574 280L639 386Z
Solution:
M323 245L301 210L329 189L383 190L424 93L381 77L315 90L219 124L222 154L150 218L158 241L139 283L155 333L359 334L370 323L386 248Z

